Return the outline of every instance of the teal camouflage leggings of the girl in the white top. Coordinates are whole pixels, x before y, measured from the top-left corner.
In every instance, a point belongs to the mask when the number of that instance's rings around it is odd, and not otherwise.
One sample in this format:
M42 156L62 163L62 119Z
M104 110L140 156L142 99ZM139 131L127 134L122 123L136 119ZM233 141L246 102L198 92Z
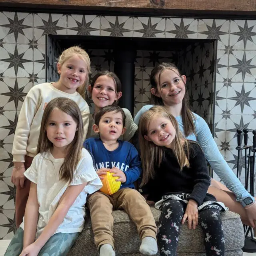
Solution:
M22 228L18 228L4 256L19 256L23 249ZM40 250L38 256L65 256L79 236L78 233L56 233L49 238Z

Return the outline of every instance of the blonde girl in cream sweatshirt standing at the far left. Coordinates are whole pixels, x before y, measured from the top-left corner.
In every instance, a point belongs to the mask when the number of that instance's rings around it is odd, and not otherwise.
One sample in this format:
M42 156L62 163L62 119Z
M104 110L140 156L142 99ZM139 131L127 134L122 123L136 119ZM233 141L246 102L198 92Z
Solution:
M82 48L72 46L62 52L57 68L60 79L57 82L33 86L20 110L12 147L14 167L11 178L16 186L17 227L22 222L30 189L30 182L24 177L24 172L36 155L40 124L47 103L57 97L74 100L82 113L84 134L87 134L89 106L84 99L84 94L88 85L90 58Z

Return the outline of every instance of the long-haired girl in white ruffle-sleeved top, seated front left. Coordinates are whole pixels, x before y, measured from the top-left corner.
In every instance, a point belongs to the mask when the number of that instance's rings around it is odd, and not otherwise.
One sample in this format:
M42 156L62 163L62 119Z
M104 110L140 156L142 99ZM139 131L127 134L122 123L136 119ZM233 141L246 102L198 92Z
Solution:
M24 222L5 256L64 256L82 231L87 194L102 187L90 153L82 148L78 105L51 100L42 116L37 155L24 176L30 180Z

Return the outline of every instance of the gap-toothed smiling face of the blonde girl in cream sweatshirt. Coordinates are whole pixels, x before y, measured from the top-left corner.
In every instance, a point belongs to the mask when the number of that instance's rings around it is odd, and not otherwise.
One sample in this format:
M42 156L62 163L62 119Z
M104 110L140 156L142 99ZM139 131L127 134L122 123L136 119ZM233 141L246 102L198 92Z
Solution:
M59 90L74 93L76 88L84 85L87 75L87 66L84 60L78 55L75 54L70 57L62 65L58 63L57 68L60 74L60 80L58 81Z

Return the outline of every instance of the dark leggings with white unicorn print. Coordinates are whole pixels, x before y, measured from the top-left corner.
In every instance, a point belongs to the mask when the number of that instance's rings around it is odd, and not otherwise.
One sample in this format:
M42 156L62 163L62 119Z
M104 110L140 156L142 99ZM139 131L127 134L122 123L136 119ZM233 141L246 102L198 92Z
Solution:
M209 207L209 206L208 206ZM161 256L176 256L181 220L186 204L178 200L166 200L158 226L158 243ZM204 245L207 256L224 256L225 241L220 212L215 208L206 208L198 213L198 225L204 232Z

